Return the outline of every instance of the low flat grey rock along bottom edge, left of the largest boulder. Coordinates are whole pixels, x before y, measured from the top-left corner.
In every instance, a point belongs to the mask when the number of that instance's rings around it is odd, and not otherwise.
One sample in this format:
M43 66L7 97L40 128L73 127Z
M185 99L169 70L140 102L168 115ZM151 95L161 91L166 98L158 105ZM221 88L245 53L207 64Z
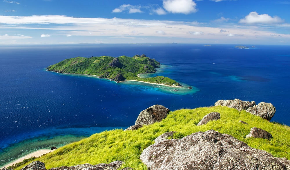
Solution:
M110 164L81 164L81 165L75 165L72 167L57 167L57 168L51 168L50 170L117 170L121 167L121 165L124 162L122 161L114 161Z

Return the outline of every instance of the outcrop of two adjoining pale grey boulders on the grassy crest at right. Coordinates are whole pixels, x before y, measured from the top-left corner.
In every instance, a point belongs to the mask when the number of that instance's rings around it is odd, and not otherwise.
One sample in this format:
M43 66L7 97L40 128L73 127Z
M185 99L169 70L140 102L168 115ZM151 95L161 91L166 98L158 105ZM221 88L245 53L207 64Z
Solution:
M246 110L246 112L260 116L269 121L276 112L276 108L271 103L261 102L256 105L255 101L241 101L240 99L218 100L215 102L215 106L227 106L229 108L235 108L239 111Z

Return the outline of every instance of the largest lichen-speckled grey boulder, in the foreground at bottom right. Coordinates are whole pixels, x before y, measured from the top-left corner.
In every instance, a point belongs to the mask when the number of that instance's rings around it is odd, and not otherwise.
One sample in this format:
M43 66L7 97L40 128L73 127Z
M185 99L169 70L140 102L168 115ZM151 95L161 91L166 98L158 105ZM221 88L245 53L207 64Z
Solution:
M290 162L214 130L155 143L140 159L150 170L286 170Z

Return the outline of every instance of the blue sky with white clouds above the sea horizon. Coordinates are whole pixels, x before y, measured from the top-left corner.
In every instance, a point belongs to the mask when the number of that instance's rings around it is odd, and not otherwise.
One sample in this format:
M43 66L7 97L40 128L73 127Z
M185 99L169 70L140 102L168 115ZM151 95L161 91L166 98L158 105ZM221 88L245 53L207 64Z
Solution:
M0 44L290 45L290 0L0 0Z

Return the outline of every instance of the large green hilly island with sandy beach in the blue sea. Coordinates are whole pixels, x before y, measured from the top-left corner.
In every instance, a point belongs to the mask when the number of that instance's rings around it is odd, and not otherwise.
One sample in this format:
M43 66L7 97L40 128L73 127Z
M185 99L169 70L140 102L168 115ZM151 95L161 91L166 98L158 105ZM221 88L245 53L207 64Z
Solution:
M156 83L173 87L181 87L180 83L164 76L152 78L141 78L142 73L154 73L161 65L155 59L146 57L145 54L133 57L120 56L117 58L110 56L101 57L75 57L63 60L57 64L47 67L48 71L68 74L87 74L107 78L116 82L124 80L135 80L146 83Z

